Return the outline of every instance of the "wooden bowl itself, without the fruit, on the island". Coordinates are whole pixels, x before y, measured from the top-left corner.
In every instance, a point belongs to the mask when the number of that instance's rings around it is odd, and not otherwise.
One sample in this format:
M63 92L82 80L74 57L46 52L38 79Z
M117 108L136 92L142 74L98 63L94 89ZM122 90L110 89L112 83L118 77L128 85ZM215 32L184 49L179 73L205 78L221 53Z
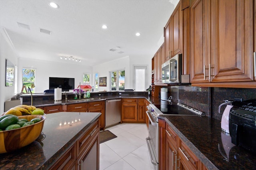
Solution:
M45 115L26 115L18 118L30 121L36 117L41 121L26 127L0 131L0 154L22 148L38 138L44 127Z

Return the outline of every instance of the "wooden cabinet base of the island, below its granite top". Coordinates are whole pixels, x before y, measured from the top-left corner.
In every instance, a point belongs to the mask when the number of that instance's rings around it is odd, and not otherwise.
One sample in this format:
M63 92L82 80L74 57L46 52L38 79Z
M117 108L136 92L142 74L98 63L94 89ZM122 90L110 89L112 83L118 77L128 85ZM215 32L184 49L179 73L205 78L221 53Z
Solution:
M100 128L99 120L57 160L50 170L98 170Z

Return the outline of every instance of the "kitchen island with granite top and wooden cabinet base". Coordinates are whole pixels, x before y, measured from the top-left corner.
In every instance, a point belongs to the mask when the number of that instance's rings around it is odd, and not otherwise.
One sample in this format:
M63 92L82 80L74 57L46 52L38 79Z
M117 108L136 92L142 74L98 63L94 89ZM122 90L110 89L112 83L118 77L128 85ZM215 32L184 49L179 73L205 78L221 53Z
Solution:
M88 154L94 156L95 162L86 166L99 169L100 115L80 112L46 115L42 134L36 141L0 154L0 169L80 169L79 166L88 163Z

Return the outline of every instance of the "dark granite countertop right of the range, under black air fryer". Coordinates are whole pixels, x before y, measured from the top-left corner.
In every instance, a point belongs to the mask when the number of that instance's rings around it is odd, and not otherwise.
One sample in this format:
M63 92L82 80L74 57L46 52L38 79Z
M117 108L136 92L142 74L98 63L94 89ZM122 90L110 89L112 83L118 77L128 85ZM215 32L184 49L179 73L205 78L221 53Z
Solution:
M232 144L231 137L222 133L220 121L205 116L160 116L159 119L173 128L209 170L256 169L256 156Z

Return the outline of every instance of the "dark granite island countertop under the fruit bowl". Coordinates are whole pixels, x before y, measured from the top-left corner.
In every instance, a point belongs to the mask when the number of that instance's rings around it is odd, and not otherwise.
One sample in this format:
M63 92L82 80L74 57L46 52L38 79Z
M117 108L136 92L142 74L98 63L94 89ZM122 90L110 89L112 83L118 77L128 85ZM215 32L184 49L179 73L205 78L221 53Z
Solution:
M36 140L14 152L0 154L0 169L49 169L100 115L101 113L79 112L46 115L42 130L45 138L42 141ZM72 123L75 120L78 123L72 126L60 126L60 123L64 125L64 122Z

